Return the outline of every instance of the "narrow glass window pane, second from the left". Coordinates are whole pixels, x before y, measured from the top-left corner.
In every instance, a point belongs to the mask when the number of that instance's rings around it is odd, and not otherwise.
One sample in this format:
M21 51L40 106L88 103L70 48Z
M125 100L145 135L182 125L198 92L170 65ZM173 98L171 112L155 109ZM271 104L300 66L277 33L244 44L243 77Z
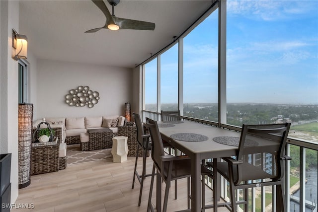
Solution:
M178 44L160 57L161 110L178 110Z

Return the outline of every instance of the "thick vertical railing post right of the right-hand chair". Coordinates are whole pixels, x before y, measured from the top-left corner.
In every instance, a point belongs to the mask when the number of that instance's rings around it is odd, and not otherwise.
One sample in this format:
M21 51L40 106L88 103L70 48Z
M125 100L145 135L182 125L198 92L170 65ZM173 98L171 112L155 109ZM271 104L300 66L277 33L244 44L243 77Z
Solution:
M299 209L301 212L306 209L306 148L300 147L300 195L299 195Z

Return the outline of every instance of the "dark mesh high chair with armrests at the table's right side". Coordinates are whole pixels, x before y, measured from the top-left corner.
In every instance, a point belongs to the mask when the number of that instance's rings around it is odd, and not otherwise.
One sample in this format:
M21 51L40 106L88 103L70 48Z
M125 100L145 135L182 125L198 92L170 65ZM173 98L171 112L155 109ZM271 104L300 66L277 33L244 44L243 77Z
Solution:
M222 158L225 162L217 162L218 172L230 183L232 212L237 212L237 205L240 204L244 205L245 212L248 211L248 188L273 185L276 185L277 196L276 209L273 203L272 211L284 212L286 203L282 178L284 163L291 160L289 156L284 155L289 128L290 123L243 125L236 157L225 157ZM267 145L252 146L253 141L260 140L267 142ZM257 164L257 158L264 162ZM237 200L241 197L235 197L237 189L244 191L243 199L240 201Z

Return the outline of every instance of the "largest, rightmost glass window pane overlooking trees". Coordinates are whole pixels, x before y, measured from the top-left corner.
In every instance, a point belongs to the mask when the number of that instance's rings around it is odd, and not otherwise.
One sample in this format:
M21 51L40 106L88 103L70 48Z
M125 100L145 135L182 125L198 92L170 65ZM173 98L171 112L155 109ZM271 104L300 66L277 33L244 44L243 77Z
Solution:
M318 141L317 20L318 1L227 1L228 124L288 121Z

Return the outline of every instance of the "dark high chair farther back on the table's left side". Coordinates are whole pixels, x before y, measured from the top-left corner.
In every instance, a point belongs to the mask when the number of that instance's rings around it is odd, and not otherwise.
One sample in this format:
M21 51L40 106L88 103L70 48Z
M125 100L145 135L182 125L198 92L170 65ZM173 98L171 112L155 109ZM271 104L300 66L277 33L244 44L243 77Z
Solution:
M136 161L135 161L135 169L134 169L134 177L133 177L133 186L132 189L134 189L135 185L135 178L137 177L139 183L140 183L140 192L139 192L139 200L138 200L138 206L141 204L141 196L143 193L143 186L144 186L144 179L145 177L151 176L151 174L146 174L146 159L148 151L151 150L151 142L149 141L150 135L145 135L144 133L144 126L141 122L140 116L137 113L133 113L133 118L136 123L137 127L137 152L136 152ZM138 162L138 156L139 156L139 149L143 152L143 170L142 174L140 175L137 171L137 162Z

